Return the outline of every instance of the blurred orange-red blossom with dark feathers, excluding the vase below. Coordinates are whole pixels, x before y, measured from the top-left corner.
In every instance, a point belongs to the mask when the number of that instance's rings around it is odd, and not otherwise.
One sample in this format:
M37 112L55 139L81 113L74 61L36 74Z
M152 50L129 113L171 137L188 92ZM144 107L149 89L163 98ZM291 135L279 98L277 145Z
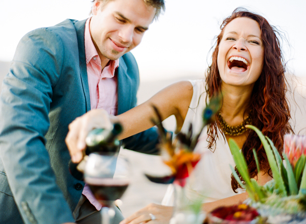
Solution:
M181 187L185 186L186 178L201 159L201 155L194 152L199 136L203 128L209 123L215 121L215 115L220 109L221 95L216 95L210 99L209 104L203 111L203 125L201 131L193 135L192 124L190 124L189 132L178 133L176 139L172 141L172 135L167 132L161 123L161 116L158 109L152 105L157 119L152 119L154 125L157 126L159 132L159 149L163 162L171 169L171 175L164 177L155 177L146 175L149 180L155 183L170 184L177 183Z

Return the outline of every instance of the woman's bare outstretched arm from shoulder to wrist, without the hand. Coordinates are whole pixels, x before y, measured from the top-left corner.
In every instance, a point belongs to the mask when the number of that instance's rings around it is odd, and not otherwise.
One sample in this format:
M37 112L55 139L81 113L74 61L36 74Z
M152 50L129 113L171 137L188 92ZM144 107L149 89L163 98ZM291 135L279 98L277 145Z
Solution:
M183 125L192 95L193 87L190 82L178 82L162 89L145 103L116 116L124 128L119 138L124 139L153 127L151 119L156 119L157 116L152 105L159 110L161 120L175 115L179 131Z

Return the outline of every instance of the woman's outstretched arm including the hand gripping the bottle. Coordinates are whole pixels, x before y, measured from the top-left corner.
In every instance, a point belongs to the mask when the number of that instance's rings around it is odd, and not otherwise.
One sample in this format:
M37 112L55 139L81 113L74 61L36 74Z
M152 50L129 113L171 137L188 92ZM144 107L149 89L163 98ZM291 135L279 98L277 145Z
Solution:
M120 121L123 132L120 139L127 138L153 127L151 118L156 118L152 105L160 112L162 120L175 115L177 128L183 125L193 95L192 84L188 81L172 84L156 93L147 102L121 115L111 116L103 109L90 110L83 116L76 118L69 125L69 132L65 139L73 162L80 162L85 149L85 138L95 128L110 128L111 123Z

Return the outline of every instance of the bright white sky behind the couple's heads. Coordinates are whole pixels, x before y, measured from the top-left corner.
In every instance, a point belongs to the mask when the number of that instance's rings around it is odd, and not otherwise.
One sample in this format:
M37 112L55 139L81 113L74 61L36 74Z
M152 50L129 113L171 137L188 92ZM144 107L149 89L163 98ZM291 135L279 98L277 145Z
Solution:
M305 0L167 0L166 12L154 21L142 43L132 50L143 81L204 74L222 20L237 7L263 15L286 33L288 69L306 77ZM90 0L0 0L0 60L11 61L27 32L66 18L89 16ZM290 49L290 51L288 51Z

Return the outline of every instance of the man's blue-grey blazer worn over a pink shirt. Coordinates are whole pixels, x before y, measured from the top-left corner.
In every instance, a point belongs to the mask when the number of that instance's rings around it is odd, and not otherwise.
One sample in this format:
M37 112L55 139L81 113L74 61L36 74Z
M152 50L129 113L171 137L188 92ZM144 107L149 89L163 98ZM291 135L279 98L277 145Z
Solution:
M0 98L0 223L22 222L17 208L25 223L74 221L84 182L69 174L64 139L69 123L90 110L84 30L85 20L67 19L28 33L17 46ZM116 76L121 114L136 105L131 53L120 58ZM156 154L157 138L151 129L123 146Z

